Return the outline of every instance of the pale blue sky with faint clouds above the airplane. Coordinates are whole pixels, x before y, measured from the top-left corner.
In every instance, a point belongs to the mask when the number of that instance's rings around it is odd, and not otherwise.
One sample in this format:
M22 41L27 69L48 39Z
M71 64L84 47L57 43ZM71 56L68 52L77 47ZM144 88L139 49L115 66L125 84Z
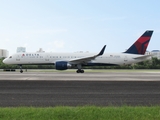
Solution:
M0 0L0 49L124 52L146 30L160 50L159 0Z

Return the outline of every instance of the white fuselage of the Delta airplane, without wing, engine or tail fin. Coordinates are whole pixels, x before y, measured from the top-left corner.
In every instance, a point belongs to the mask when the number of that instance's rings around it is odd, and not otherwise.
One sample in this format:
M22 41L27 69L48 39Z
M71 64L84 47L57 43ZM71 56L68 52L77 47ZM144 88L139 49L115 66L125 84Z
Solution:
M55 64L57 61L71 61L78 58L93 56L94 53L16 53L3 60L6 64ZM144 61L135 59L144 55L127 53L106 53L87 61L84 65L127 65ZM83 64L82 64L83 65Z

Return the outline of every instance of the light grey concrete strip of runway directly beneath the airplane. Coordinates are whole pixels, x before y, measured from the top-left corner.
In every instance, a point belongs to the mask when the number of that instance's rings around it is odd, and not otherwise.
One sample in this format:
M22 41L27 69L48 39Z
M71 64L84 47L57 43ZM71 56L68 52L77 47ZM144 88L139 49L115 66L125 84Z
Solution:
M51 80L51 81L160 81L158 71L128 72L0 72L0 80Z

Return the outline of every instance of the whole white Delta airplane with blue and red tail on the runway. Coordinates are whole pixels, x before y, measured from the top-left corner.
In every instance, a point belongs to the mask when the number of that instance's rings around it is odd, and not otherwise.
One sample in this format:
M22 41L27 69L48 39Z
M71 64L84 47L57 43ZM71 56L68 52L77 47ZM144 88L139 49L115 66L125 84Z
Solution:
M113 66L129 65L149 59L151 55L145 55L153 30L147 30L125 52L105 53L106 45L98 54L95 53L16 53L3 60L5 64L17 64L20 73L23 73L22 65L55 65L56 70L77 68L77 73L84 73L82 66Z

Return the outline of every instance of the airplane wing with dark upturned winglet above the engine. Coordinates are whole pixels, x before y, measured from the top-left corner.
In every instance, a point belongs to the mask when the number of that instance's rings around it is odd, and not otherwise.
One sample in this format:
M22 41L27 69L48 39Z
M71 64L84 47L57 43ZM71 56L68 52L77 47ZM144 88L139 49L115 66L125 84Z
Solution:
M93 60L100 55L103 55L105 48L106 48L106 45L102 48L102 50L97 55L71 59L71 60L69 60L69 63L71 63L71 64L86 64L88 61Z

